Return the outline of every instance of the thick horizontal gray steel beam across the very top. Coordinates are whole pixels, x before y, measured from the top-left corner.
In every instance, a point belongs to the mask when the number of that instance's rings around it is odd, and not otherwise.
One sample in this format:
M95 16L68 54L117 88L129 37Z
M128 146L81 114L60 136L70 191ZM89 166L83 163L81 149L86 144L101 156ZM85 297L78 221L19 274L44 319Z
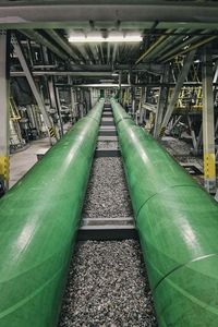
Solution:
M62 28L72 22L84 21L140 21L140 22L196 22L217 23L218 5L171 1L22 1L22 5L8 1L0 5L0 26L7 28ZM194 13L194 14L193 14Z

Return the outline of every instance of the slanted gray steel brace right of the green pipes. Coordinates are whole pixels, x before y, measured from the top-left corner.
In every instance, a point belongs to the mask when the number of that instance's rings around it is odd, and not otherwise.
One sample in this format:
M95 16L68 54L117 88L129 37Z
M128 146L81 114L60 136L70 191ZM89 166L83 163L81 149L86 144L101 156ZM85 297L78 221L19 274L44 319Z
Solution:
M181 72L180 72L180 75L178 77L177 85L175 85L175 87L173 89L173 93L172 93L172 96L170 98L167 112L165 114L165 118L164 118L164 121L162 121L162 124L161 124L161 129L160 129L160 133L159 133L160 137L164 136L166 128L167 128L167 124L170 121L171 114L172 114L172 112L174 110L174 105L175 105L175 102L178 100L178 97L179 97L180 90L182 88L182 85L183 85L183 83L184 83L184 81L185 81L185 78L187 76L187 73L190 71L191 64L193 63L195 53L196 53L196 50L193 50L185 58L184 65L183 65Z

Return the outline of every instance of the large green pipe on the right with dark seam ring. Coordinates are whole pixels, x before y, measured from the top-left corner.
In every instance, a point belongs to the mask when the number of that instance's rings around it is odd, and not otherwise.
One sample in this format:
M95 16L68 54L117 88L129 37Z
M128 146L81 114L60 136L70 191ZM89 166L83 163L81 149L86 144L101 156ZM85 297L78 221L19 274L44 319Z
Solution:
M218 204L111 100L159 326L218 326Z

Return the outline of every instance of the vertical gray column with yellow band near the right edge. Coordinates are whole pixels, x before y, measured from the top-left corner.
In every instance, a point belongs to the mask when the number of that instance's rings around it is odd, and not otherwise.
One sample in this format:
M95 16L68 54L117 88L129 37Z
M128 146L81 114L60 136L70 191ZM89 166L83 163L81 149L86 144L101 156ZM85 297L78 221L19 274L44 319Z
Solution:
M214 129L214 93L213 93L213 60L209 48L204 48L203 55L203 150L204 178L208 192L216 192L215 162L215 129Z

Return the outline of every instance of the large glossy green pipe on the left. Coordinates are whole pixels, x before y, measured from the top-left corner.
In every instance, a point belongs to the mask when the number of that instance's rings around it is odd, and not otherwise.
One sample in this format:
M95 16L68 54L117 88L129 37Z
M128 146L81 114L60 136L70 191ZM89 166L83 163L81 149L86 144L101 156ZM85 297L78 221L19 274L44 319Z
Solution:
M55 327L101 99L0 201L0 327Z

